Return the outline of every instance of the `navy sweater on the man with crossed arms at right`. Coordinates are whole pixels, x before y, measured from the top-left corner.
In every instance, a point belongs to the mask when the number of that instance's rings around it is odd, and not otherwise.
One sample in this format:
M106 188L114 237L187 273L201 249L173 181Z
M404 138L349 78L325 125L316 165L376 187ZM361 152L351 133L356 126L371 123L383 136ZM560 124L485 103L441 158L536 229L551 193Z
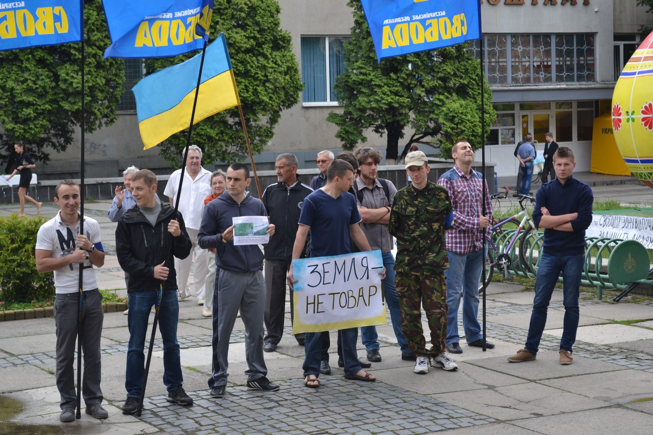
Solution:
M583 255L585 253L585 230L592 223L592 188L582 181L569 177L565 184L558 179L543 184L535 194L533 221L539 227L542 219L541 208L546 207L551 216L578 213L577 219L571 221L573 232L558 231L552 228L544 230L544 253L549 255Z

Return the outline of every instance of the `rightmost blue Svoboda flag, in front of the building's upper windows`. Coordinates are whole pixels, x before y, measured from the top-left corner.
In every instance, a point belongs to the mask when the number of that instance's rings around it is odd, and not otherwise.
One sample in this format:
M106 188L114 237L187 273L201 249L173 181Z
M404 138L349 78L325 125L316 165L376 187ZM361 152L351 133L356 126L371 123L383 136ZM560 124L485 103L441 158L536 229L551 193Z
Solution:
M479 0L361 0L379 62L481 39Z

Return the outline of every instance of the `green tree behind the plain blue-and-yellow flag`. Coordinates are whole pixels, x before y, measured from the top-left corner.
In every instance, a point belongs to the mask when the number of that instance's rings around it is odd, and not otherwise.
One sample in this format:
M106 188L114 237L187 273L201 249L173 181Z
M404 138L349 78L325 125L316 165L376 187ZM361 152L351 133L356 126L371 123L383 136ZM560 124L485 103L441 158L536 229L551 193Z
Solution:
M281 30L276 0L216 0L211 40L225 33L229 56L253 153L260 153L274 136L281 110L294 106L304 85L291 36ZM193 56L147 59L155 72ZM197 78L195 78L197 80ZM191 114L188 114L190 122ZM187 130L159 144L159 153L173 166L182 161ZM210 116L193 126L191 142L202 147L202 161L234 162L247 155L238 108Z

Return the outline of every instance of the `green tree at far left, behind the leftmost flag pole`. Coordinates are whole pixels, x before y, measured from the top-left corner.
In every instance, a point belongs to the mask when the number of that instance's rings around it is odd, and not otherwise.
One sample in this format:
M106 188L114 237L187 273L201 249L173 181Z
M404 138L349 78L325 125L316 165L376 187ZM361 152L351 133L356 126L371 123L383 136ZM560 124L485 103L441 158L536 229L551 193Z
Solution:
M103 59L110 44L101 0L84 1L86 110L91 133L116 120L125 80L122 59ZM18 140L47 162L65 151L82 122L81 43L0 52L0 149ZM7 152L2 159L6 160Z

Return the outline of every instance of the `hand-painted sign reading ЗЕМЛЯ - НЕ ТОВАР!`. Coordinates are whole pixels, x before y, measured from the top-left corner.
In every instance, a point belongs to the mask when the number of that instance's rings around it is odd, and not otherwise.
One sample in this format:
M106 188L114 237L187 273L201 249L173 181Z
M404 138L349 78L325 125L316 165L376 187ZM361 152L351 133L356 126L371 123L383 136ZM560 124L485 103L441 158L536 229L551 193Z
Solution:
M383 325L381 251L293 260L293 334Z

